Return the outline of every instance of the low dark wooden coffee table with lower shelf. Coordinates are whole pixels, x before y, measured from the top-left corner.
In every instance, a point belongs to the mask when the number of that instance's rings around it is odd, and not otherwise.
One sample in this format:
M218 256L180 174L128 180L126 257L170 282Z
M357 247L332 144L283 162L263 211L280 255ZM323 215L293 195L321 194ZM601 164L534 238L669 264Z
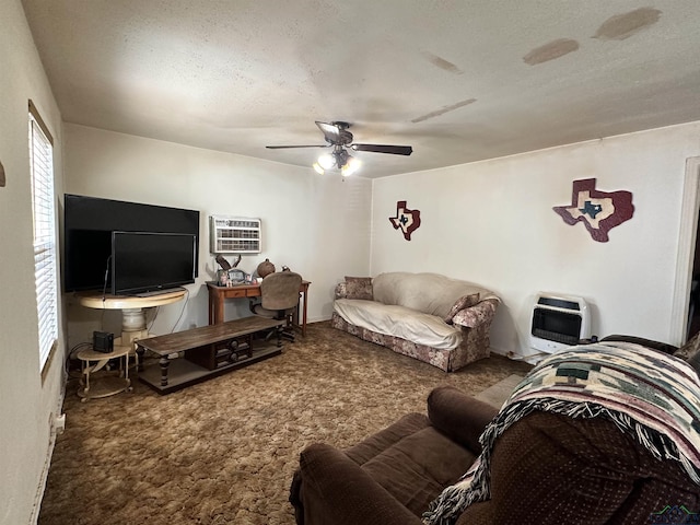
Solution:
M161 394L176 390L233 369L238 369L282 352L284 319L259 316L229 320L219 325L150 337L136 341L139 362L147 351L161 359L160 366L139 370L139 380ZM264 331L276 332L276 343L256 338ZM160 374L159 374L160 369Z

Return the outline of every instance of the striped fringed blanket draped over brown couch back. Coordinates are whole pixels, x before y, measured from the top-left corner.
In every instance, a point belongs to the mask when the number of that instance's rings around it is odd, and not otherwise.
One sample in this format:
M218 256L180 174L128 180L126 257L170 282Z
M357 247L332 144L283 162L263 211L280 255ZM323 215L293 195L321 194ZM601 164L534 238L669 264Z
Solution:
M481 434L481 455L431 503L423 523L454 524L469 504L490 498L493 444L534 410L607 418L654 457L678 462L700 486L698 374L684 361L639 345L598 342L555 353L530 371Z

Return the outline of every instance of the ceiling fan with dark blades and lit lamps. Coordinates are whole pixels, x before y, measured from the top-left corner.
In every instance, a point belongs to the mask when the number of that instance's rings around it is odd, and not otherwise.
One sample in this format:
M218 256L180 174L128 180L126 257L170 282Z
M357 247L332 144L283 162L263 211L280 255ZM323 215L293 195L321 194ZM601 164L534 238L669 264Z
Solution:
M284 148L328 148L332 147L330 154L325 154L318 158L318 161L314 163L314 170L323 174L326 170L337 167L343 175L351 175L359 166L360 161L350 153L347 148L354 151L371 151L374 153L390 153L393 155L410 155L413 149L410 145L389 145L389 144L358 144L352 142L352 133L348 130L350 125L342 121L334 122L319 122L316 120L316 126L324 133L326 144L314 145L268 145L270 150L280 150Z

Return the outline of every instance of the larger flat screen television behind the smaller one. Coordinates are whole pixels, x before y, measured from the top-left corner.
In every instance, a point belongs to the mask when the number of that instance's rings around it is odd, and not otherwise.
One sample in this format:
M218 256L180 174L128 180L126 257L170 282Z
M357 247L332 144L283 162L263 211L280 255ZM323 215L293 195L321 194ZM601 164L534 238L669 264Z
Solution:
M199 211L66 194L63 198L63 292L112 290L112 233L195 235L199 260Z

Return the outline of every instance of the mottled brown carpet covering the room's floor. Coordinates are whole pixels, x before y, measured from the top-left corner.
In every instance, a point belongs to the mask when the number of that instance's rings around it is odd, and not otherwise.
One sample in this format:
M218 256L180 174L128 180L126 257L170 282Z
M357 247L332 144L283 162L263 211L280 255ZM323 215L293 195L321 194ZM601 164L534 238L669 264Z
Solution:
M424 412L438 385L477 394L529 369L492 357L446 374L316 323L282 355L165 396L137 380L82 404L72 380L38 523L293 525L304 446L350 446Z

